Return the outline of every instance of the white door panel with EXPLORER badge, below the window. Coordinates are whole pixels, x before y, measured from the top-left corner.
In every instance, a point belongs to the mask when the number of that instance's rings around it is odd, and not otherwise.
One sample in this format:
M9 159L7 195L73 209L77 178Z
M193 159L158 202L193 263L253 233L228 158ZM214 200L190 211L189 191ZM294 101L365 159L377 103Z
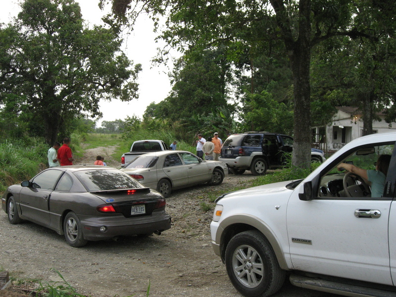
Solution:
M391 202L291 198L287 219L294 269L392 285L386 240ZM356 209L376 209L381 216L358 218Z

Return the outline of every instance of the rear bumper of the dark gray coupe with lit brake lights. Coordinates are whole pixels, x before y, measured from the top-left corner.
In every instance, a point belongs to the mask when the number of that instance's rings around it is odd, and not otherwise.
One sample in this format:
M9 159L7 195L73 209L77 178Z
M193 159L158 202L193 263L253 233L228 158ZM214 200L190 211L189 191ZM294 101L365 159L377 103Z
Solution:
M124 216L87 217L79 216L84 239L99 241L117 236L150 234L170 229L171 217L164 211L152 212L151 215L125 218ZM100 227L106 227L104 232Z

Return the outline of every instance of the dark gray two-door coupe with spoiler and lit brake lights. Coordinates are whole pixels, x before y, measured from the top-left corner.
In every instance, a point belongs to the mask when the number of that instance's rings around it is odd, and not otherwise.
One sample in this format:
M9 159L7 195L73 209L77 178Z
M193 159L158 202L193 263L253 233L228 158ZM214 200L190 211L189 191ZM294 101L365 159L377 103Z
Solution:
M1 198L11 224L29 220L64 234L72 247L170 229L165 199L119 169L52 167L8 187Z

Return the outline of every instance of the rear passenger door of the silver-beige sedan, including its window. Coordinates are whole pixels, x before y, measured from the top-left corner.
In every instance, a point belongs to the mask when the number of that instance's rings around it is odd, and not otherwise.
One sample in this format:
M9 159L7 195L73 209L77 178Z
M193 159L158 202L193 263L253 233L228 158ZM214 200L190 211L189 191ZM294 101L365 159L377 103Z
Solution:
M177 153L165 157L162 170L172 180L174 188L188 185L187 167Z

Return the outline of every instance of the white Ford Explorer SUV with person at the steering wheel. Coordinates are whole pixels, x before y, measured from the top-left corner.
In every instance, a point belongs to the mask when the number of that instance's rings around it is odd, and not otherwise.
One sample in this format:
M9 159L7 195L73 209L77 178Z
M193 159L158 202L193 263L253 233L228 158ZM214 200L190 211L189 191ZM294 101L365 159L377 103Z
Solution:
M361 137L304 180L217 198L212 246L234 287L245 296L270 296L288 272L299 287L396 296L395 143L395 132ZM371 195L369 181L337 169L344 162L378 174L383 154L391 161L382 197L371 197L381 195Z

